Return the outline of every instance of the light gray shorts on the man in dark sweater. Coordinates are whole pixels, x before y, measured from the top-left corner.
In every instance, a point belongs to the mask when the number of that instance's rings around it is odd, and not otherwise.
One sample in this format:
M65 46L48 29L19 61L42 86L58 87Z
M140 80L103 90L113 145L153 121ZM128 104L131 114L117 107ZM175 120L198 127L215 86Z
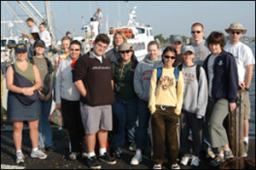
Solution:
M100 129L112 131L112 105L90 106L80 102L80 111L86 134L95 134Z

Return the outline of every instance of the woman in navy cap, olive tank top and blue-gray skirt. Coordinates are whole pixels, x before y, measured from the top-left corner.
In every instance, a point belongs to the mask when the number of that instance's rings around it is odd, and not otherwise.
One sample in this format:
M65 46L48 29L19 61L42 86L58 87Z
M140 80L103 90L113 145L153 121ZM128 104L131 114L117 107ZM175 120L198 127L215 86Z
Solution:
M7 118L14 125L14 141L16 148L16 163L24 162L25 156L21 151L22 128L23 122L27 121L30 128L30 138L32 141L32 158L38 157L45 159L46 154L42 150L38 150L38 120L41 114L38 97L33 103L24 104L26 98L34 95L41 86L41 78L36 65L32 65L26 61L27 48L25 44L18 44L15 47L15 55L17 61L14 65L9 66L6 73L6 85L9 89ZM23 76L23 82L32 83L31 87L21 88L17 84L15 77ZM15 85L16 84L16 85ZM23 95L22 95L23 94ZM20 97L20 98L18 98Z

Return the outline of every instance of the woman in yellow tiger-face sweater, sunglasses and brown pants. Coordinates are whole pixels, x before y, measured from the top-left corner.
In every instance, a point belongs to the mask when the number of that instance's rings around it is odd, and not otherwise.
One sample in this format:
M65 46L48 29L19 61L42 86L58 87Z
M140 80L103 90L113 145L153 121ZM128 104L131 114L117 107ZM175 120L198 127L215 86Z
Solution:
M157 81L158 69L154 69L150 81L148 108L152 114L154 169L161 168L165 160L165 144L170 167L179 169L177 165L178 119L183 105L183 74L178 71L176 82L174 67L172 67L176 57L176 49L166 47L162 54L165 66L162 67L159 82Z

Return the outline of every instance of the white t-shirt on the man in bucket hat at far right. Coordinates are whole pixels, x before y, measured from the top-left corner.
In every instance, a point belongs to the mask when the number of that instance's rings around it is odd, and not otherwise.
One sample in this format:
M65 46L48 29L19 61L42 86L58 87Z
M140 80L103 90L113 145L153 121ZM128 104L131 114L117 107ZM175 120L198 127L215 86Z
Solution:
M247 73L246 66L255 64L252 49L242 42L238 42L234 45L230 44L230 42L227 42L224 50L234 55L236 59L239 81L245 82Z

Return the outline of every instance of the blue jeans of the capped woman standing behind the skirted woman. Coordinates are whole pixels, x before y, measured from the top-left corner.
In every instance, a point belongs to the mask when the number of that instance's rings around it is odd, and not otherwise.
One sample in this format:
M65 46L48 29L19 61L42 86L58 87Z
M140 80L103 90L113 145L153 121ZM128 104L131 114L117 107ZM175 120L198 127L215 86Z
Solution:
M38 148L44 148L53 145L52 132L48 120L52 98L50 98L49 101L42 101L41 99L39 100L42 115L39 119L38 125Z

